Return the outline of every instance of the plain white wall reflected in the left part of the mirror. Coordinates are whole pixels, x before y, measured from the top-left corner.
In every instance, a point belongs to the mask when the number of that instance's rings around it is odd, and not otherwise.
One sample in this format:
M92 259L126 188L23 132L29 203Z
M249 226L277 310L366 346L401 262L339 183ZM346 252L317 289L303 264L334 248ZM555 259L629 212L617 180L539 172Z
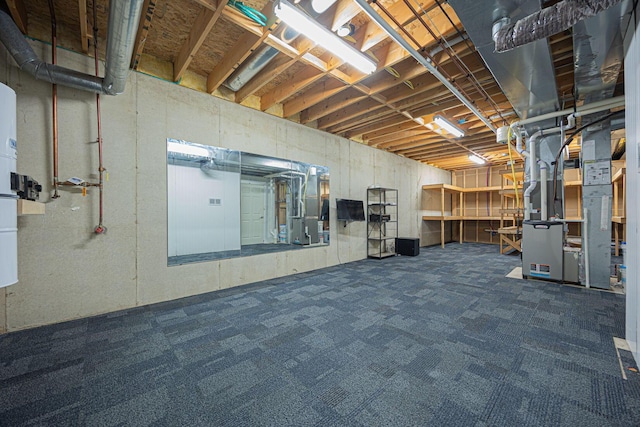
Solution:
M240 249L239 172L167 165L167 198L169 256Z

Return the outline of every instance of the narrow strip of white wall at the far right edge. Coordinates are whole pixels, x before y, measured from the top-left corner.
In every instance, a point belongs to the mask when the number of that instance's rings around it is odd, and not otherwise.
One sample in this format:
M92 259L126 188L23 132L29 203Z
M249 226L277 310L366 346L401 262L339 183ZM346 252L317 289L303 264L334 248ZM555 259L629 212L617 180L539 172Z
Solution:
M640 198L637 188L640 185L640 34L637 12L632 15L631 29L625 38L624 86L626 101L627 132L627 307L626 339L633 355L640 363L640 235L638 218L640 217ZM635 25L634 25L635 23ZM635 31L634 31L635 30Z

